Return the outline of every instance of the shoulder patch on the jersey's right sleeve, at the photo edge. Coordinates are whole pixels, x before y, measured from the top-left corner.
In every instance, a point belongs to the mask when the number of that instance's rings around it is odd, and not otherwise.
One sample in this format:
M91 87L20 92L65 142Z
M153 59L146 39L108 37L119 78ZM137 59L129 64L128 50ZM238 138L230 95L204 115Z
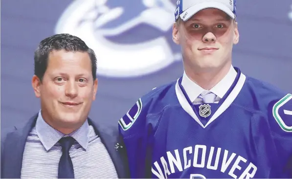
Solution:
M287 94L273 106L273 116L282 130L292 132L292 94Z

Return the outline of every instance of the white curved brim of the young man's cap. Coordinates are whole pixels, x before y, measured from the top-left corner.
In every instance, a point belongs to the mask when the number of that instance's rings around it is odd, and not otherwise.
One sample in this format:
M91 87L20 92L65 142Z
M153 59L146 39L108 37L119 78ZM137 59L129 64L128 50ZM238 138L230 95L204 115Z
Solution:
M214 2L214 1L195 4L187 8L186 10L184 10L183 13L180 14L180 18L182 19L182 21L187 21L194 14L206 8L220 9L223 12L225 12L228 16L230 16L232 19L235 18L234 13L225 4L220 3L220 2Z

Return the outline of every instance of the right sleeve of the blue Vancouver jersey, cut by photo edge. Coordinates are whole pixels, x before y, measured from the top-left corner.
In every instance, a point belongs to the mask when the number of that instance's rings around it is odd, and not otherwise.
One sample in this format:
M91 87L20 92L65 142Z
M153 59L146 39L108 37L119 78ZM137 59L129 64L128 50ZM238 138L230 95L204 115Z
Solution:
M292 171L292 94L269 106L270 128L283 168ZM288 167L288 168L287 168ZM292 177L292 176L291 176Z

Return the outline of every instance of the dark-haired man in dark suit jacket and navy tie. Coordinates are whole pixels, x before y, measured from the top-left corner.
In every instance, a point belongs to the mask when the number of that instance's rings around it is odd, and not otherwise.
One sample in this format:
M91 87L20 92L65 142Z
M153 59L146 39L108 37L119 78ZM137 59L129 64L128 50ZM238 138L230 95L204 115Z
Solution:
M1 178L128 178L117 128L88 117L97 91L93 50L57 34L41 41L34 61L41 110L1 140Z

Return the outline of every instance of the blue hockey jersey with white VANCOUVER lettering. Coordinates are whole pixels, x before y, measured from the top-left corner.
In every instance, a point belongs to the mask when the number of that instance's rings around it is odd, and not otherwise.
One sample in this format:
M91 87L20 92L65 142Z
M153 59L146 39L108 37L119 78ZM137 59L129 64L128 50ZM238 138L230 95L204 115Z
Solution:
M289 178L292 94L235 69L218 104L193 105L181 78L136 102L119 120L131 178Z

